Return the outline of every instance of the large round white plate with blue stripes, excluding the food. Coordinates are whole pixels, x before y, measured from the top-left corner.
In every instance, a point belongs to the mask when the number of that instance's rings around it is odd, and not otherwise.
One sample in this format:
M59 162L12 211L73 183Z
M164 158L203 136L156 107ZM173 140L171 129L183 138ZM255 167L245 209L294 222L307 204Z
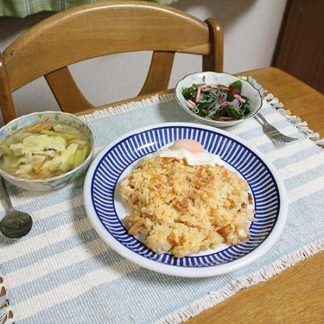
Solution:
M224 245L176 258L156 254L128 234L122 222L126 209L119 197L119 182L138 166L143 156L181 138L199 141L207 151L220 155L226 168L248 181L256 220L250 225L250 239L245 244ZM113 141L98 154L88 170L84 200L94 228L121 256L150 270L187 277L223 274L262 256L284 228L288 206L282 180L260 152L228 132L191 123L157 124Z

